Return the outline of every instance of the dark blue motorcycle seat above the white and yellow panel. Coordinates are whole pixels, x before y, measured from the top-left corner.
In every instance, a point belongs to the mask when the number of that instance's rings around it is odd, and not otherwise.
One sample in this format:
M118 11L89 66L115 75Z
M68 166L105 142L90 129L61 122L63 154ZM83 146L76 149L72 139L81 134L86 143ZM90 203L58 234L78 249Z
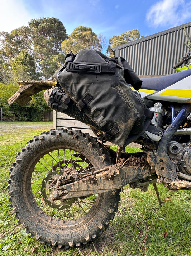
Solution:
M143 83L141 89L161 91L188 76L191 76L191 69L167 76L142 78Z

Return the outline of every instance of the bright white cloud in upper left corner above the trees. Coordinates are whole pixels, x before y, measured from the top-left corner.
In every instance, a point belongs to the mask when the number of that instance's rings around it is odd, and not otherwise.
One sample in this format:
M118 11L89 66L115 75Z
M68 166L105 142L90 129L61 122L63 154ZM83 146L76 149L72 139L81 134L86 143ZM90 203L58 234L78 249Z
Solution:
M0 0L0 6L0 31L10 33L13 29L28 25L31 17L22 0Z

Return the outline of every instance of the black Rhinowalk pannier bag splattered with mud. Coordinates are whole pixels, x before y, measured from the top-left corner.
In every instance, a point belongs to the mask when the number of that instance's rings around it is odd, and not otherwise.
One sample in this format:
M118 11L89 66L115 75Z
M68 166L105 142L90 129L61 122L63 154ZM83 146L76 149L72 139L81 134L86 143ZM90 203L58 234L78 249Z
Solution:
M103 131L105 140L125 147L131 142L127 140L129 134L137 137L134 135L144 132L145 105L138 92L128 85L139 90L142 81L122 57L109 59L87 48L75 55L70 52L54 77L77 103L79 112Z

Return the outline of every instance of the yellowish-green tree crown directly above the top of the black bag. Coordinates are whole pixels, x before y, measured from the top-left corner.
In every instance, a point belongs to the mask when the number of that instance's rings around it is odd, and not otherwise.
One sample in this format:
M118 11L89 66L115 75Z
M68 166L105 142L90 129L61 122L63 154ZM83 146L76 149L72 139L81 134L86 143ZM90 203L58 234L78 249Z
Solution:
M100 34L97 36L90 27L79 26L73 30L68 39L64 40L61 48L65 54L77 51L83 48L89 48L101 51L105 46L105 37Z

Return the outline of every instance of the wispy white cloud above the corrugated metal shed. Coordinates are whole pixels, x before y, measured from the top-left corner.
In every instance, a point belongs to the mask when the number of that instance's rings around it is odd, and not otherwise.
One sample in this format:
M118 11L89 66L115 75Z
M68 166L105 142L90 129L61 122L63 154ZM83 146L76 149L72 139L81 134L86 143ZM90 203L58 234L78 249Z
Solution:
M151 27L175 27L191 17L191 1L162 0L151 6L146 14Z

